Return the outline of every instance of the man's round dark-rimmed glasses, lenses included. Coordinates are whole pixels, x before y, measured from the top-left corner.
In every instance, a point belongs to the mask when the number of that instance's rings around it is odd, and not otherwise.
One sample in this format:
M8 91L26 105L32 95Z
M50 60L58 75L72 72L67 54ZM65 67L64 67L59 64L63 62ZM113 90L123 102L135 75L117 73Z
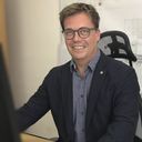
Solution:
M78 33L78 36L79 36L80 38L87 39L87 38L89 38L90 32L91 32L92 30L95 30L95 28L82 27L82 28L80 28L80 29L78 29L78 30L65 29L65 30L63 31L63 33L64 33L64 37L65 37L67 40L72 40L72 39L74 38L74 36L75 36L75 32Z

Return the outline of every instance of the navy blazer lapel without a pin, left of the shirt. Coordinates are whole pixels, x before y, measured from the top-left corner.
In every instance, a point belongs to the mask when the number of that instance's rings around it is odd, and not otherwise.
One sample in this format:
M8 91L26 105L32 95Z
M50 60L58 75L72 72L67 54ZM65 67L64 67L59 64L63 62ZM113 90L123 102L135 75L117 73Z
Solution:
M73 141L73 94L72 94L72 73L70 65L62 72L62 100L63 100L63 115L68 135L68 141ZM71 140L69 140L71 139Z

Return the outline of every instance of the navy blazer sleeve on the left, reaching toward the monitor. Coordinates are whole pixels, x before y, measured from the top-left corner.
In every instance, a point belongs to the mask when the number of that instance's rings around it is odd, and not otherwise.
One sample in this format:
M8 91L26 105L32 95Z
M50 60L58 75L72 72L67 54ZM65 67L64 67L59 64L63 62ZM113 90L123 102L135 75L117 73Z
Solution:
M48 92L44 89L44 82L29 101L17 110L18 128L20 131L28 129L36 123L50 109Z

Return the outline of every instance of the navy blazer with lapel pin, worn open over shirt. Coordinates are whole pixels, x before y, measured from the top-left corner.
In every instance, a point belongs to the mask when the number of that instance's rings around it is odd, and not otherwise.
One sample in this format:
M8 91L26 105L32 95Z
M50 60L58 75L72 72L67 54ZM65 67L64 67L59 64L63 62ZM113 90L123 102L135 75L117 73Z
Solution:
M87 142L133 142L139 91L134 69L101 52L88 97ZM59 141L73 142L72 97L72 73L68 62L53 68L38 91L19 109L20 130L51 110Z

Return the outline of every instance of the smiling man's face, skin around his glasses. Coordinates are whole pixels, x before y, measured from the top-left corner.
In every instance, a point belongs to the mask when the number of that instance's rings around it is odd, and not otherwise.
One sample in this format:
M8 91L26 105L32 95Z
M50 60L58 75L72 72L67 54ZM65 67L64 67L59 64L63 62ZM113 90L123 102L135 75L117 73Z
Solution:
M88 14L81 12L71 16L64 20L64 30L78 30L80 28L95 28ZM97 52L97 43L100 39L99 30L91 30L88 38L79 37L74 32L72 39L65 39L69 53L74 61L90 61Z

